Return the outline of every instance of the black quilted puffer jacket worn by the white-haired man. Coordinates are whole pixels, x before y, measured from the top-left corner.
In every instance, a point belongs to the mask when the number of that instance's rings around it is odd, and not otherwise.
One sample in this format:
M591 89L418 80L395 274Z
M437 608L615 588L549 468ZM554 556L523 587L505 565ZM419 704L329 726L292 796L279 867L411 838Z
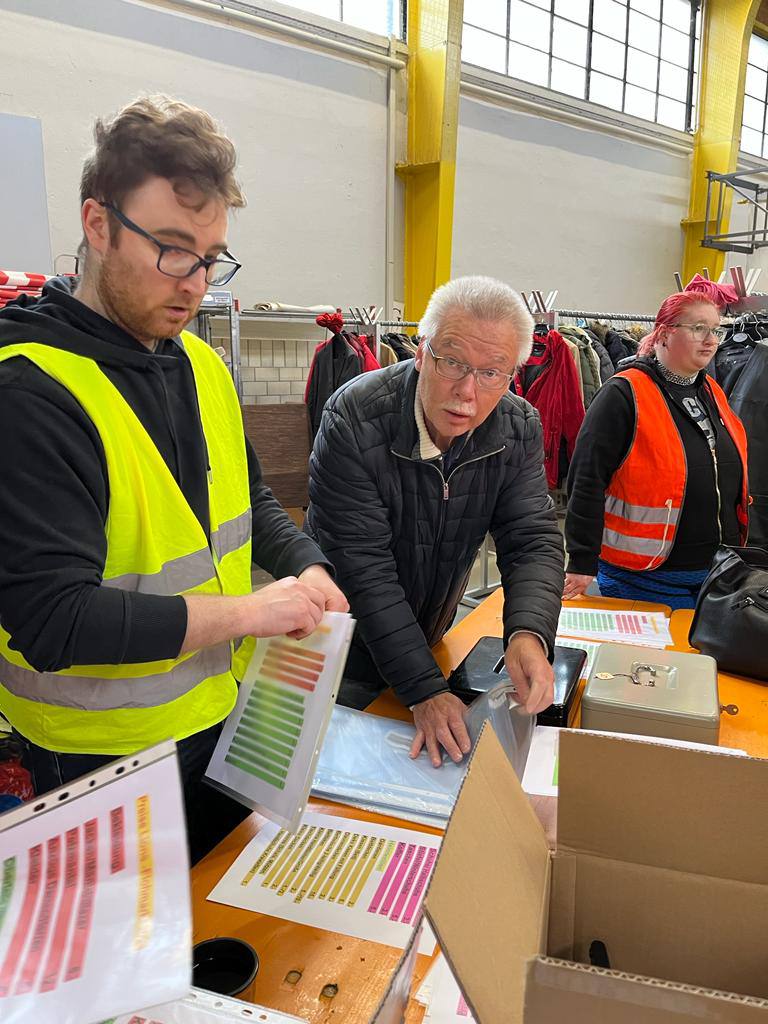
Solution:
M442 460L419 456L418 379L413 360L398 362L331 397L309 463L305 526L357 620L347 676L374 673L372 684L378 675L409 706L446 689L430 647L451 626L487 532L505 642L529 630L552 652L564 561L536 410L505 395L445 479Z

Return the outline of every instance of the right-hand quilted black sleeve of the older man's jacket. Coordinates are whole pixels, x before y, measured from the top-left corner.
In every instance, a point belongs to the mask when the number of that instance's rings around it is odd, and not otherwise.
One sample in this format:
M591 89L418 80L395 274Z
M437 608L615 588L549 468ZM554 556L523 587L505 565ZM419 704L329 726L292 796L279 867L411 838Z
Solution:
M508 456L490 532L504 587L504 643L528 630L552 652L562 601L564 553L544 474L539 414L527 403L523 436Z

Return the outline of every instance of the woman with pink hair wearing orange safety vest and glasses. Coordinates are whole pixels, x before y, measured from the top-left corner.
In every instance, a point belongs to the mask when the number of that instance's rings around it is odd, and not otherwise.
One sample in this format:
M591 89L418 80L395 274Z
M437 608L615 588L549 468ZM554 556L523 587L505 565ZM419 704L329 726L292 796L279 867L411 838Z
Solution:
M746 437L708 376L721 338L709 295L662 303L637 358L590 406L568 473L564 598L695 604L720 544L746 540Z

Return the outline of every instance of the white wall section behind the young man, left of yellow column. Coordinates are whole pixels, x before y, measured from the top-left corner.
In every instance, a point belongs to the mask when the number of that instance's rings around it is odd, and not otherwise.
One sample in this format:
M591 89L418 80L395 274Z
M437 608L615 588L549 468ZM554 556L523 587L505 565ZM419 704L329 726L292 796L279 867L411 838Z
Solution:
M162 91L204 106L238 147L245 304L383 304L384 71L128 0L0 0L0 113L42 121L54 255L80 241L94 119Z

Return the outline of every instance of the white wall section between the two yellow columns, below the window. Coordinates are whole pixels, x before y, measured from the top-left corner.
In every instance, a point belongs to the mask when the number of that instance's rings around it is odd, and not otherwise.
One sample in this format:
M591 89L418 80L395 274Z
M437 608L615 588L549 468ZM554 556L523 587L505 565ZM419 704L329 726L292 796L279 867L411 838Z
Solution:
M675 291L689 157L462 96L454 274L560 308L655 312Z

